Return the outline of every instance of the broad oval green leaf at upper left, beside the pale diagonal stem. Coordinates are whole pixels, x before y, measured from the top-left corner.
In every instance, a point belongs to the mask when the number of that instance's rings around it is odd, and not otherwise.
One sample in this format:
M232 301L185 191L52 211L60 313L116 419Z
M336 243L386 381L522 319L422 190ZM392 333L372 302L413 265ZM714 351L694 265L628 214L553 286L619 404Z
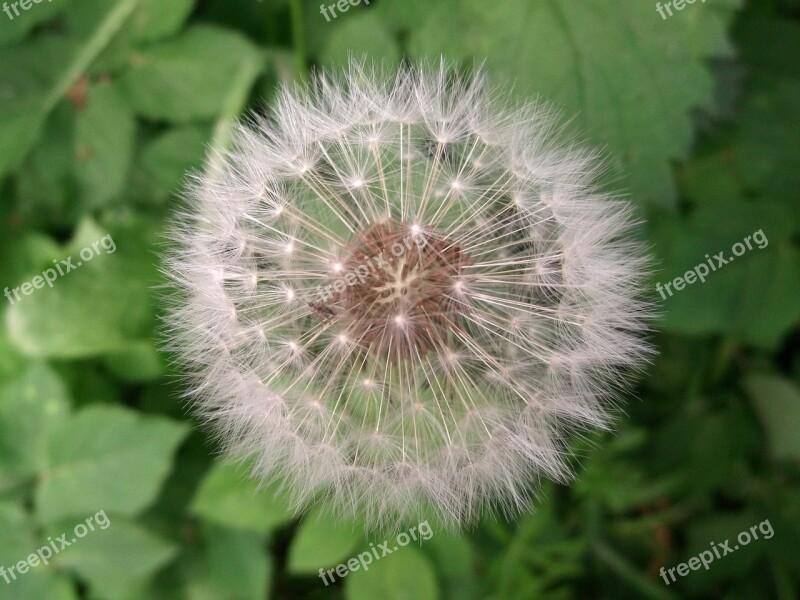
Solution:
M120 85L134 110L148 119L186 123L222 114L240 70L255 66L258 72L263 56L237 33L195 25L135 52L130 63Z

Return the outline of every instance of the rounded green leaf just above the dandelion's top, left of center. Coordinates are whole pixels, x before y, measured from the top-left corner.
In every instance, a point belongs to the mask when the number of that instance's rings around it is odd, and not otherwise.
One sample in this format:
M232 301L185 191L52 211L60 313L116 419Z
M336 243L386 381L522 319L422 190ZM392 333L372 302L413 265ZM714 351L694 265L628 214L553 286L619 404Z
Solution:
M338 24L322 53L326 63L338 66L347 64L351 55L391 66L400 60L400 49L384 21L373 11L364 11Z

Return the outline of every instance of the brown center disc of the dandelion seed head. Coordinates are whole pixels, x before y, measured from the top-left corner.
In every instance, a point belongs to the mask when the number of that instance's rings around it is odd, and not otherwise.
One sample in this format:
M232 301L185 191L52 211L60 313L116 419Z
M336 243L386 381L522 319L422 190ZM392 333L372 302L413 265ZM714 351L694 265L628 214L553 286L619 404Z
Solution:
M468 308L459 298L466 257L438 232L393 221L358 234L331 273L333 294L312 306L341 321L341 334L393 358L442 349ZM339 290L339 291L335 291Z

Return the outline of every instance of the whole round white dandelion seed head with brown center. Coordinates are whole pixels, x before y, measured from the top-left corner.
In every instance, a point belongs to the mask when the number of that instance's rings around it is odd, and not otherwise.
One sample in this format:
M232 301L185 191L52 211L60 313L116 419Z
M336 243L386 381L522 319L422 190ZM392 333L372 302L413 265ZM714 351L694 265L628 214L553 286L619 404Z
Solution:
M285 89L190 186L167 271L224 449L369 526L459 527L565 481L650 352L647 259L596 157L478 70Z

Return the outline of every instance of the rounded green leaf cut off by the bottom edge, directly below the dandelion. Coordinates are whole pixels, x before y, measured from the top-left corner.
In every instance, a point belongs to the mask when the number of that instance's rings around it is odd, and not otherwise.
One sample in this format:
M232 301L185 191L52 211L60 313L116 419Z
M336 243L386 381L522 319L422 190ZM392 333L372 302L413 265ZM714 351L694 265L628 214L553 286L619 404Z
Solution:
M430 560L410 546L347 574L347 600L435 600L439 598Z

